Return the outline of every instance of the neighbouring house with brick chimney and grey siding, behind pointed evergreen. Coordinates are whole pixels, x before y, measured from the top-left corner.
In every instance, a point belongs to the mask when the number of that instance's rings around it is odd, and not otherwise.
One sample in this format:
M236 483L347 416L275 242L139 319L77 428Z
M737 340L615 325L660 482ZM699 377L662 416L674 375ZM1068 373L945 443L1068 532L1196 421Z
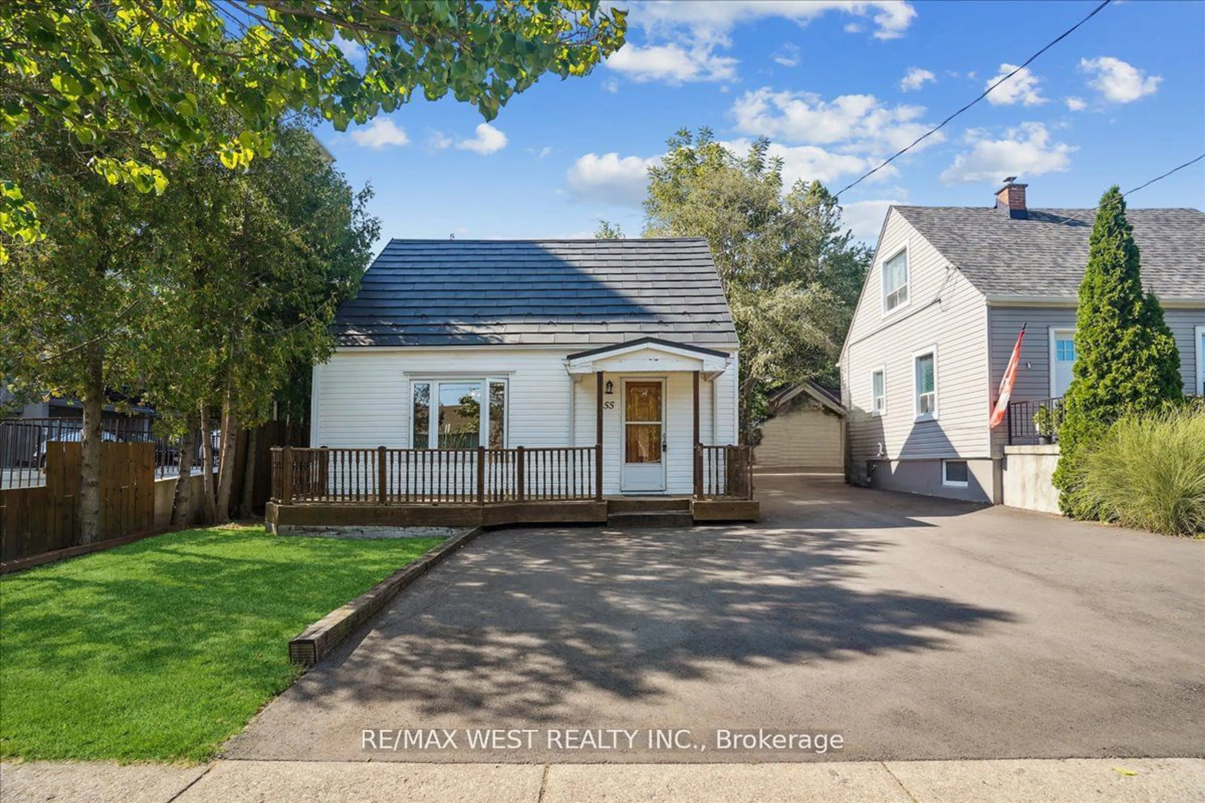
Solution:
M1164 305L1180 349L1186 394L1203 392L1205 214L1129 209L1142 282ZM841 350L848 408L847 476L876 488L1001 501L1007 425L989 426L1017 333L1027 325L1013 402L1052 394L1052 330L1075 329L1092 209L1027 209L1024 185L1001 189L998 208L895 206ZM907 249L909 302L884 312L883 265ZM915 356L936 349L933 420L916 414ZM1068 364L1064 362L1065 367ZM886 408L872 412L871 376L882 370ZM1022 413L1023 411L1023 413ZM1017 414L1031 417L1029 408ZM962 461L966 482L944 479Z

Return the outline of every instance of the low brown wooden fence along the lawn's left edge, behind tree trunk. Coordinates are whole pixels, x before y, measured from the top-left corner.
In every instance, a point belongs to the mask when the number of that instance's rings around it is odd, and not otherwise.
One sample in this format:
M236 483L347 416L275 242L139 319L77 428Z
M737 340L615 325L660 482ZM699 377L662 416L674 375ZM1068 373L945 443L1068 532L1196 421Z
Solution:
M0 560L72 547L78 537L81 444L51 442L46 484L0 490ZM153 443L101 443L100 539L154 526Z

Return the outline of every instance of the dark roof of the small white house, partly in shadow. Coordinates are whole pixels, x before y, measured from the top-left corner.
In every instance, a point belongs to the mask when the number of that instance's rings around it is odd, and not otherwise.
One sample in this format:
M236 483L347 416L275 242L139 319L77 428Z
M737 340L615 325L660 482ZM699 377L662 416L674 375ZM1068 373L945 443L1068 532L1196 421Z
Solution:
M393 240L343 303L340 346L735 349L706 240Z

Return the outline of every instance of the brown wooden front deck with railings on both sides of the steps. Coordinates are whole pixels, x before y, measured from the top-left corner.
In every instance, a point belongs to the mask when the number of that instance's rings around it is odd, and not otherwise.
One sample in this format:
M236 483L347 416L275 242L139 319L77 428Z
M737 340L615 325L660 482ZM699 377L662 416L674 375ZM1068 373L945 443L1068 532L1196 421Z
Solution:
M272 450L272 532L756 520L748 447L698 445L690 496L604 497L599 447ZM681 504L666 507L666 501ZM687 519L687 516L689 516Z

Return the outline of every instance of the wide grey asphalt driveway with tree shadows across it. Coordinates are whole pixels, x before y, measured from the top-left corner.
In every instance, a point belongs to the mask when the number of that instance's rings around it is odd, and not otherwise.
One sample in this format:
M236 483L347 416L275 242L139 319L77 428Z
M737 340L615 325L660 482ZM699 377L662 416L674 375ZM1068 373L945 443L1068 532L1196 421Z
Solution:
M758 482L758 525L483 536L228 757L1205 755L1205 542L835 479ZM454 730L457 746L440 749L442 732L425 749L393 742L415 728ZM466 728L531 736L470 749ZM717 749L717 732L758 728L844 746ZM634 731L631 746L607 731Z

